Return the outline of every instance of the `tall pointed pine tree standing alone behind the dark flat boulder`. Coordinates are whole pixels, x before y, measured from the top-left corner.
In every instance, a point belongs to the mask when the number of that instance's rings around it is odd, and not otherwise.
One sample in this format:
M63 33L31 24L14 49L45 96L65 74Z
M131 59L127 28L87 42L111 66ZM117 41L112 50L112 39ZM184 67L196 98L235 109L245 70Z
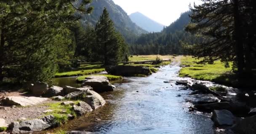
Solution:
M104 65L116 65L123 60L123 47L126 47L126 44L122 35L116 31L106 8L96 24L95 31L99 48L97 52L104 57Z

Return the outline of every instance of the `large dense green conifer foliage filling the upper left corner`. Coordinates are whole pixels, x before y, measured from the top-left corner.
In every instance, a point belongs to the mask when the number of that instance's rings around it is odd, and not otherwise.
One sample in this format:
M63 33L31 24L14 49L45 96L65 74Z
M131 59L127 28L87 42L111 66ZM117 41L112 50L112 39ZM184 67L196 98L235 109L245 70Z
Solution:
M0 81L49 81L72 55L69 26L93 8L84 0L4 0L0 3Z

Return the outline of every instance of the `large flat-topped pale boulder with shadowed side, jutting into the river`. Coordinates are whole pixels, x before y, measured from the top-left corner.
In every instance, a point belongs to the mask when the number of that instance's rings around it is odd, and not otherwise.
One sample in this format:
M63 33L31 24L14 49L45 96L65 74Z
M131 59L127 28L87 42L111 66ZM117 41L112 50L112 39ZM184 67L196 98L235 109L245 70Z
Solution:
M91 86L96 92L114 91L106 76L94 75L86 77L81 86Z

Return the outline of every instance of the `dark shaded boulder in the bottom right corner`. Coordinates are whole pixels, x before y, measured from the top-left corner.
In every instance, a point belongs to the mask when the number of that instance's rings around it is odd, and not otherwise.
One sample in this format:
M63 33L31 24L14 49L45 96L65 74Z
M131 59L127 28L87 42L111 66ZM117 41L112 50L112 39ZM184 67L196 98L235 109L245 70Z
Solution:
M237 121L232 130L237 134L256 134L256 115Z

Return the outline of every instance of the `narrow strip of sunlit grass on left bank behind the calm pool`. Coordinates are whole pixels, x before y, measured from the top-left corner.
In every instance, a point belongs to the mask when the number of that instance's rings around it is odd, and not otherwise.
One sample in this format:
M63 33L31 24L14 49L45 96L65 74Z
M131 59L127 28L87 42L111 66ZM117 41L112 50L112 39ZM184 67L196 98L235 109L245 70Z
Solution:
M71 72L61 72L57 73L55 77L71 77L71 76L81 76L81 75L90 75L94 73L99 73L105 71L104 68L99 69L90 69L90 70L79 70L79 71L71 71Z

